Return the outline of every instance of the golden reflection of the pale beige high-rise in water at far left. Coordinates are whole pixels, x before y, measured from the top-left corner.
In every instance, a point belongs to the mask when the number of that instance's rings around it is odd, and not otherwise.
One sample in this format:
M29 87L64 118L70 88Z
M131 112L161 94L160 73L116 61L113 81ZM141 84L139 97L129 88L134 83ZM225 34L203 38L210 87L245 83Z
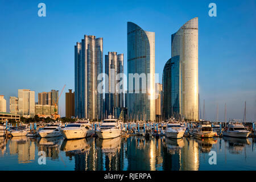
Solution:
M13 137L7 142L10 155L18 154L18 163L30 163L35 160L35 142L27 137Z

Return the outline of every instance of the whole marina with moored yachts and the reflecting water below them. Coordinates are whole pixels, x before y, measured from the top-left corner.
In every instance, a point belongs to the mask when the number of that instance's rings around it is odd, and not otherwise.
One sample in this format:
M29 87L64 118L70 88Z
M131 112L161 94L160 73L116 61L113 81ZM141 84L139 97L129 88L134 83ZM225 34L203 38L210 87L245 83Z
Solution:
M125 123L109 117L102 122L30 123L27 128L24 125L13 127L5 122L1 127L5 135L0 138L1 170L256 168L255 123L175 120ZM234 129L232 137L227 137L225 132L231 132L234 127L237 130ZM214 165L209 162L213 151L217 161ZM46 164L40 164L42 156Z

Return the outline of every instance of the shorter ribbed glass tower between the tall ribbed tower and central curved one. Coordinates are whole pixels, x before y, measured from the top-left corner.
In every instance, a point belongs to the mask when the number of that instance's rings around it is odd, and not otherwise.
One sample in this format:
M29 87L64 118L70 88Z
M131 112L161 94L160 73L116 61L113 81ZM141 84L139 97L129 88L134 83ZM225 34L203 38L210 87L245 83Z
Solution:
M105 55L105 72L108 75L109 80L106 82L105 93L105 109L107 115L113 115L114 107L123 107L123 92L122 86L118 88L118 83L123 82L121 80L116 80L119 73L123 73L123 53L117 55L117 52L109 52L108 55ZM118 90L121 89L121 90ZM121 93L120 93L121 92Z

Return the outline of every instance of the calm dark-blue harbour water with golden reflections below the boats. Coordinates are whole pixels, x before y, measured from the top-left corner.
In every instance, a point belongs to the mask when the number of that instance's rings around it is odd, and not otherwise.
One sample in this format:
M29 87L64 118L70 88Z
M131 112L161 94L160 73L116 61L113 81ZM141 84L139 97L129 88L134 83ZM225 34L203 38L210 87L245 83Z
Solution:
M255 170L255 140L0 138L0 170ZM46 164L38 163L39 151ZM209 164L216 151L217 164Z

